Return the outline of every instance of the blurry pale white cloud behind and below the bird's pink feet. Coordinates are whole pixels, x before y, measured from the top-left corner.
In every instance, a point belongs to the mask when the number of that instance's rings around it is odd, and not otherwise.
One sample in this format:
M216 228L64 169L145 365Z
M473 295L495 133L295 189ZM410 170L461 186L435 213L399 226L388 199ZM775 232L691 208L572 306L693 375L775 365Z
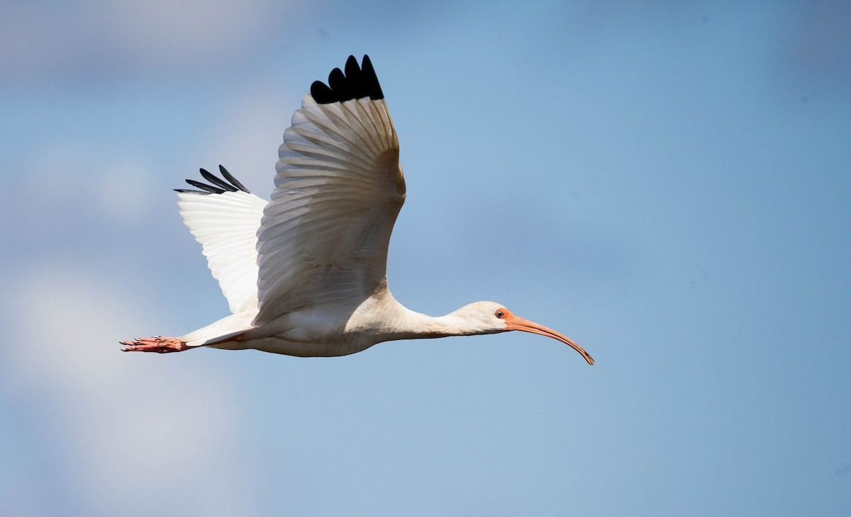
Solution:
M117 337L155 321L134 298L78 270L30 271L8 288L4 383L56 409L38 432L62 444L55 467L73 493L108 514L127 514L129 503L133 514L157 505L210 514L248 501L241 463L222 453L236 439L237 401L194 361L120 352ZM227 491L197 482L216 478ZM195 496L183 495L187 486Z

